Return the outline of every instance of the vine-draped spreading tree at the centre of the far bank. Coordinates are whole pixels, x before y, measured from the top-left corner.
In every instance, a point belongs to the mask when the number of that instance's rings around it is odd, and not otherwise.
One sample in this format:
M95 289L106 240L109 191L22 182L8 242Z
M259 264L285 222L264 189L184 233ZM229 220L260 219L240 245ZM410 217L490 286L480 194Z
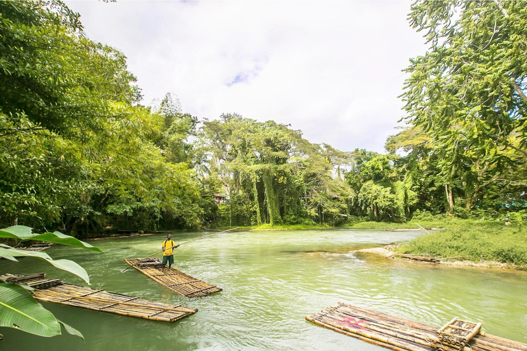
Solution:
M323 221L345 215L349 186L338 176L344 153L313 145L287 125L224 114L204 123L213 177L234 199L246 197L252 223ZM337 173L337 174L334 174ZM218 189L219 191L219 189ZM236 196L236 197L235 197Z

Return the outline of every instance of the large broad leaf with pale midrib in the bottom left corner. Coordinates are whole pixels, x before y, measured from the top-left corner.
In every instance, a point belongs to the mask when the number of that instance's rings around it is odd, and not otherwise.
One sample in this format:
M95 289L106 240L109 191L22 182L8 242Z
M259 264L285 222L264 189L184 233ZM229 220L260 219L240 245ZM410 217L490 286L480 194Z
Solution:
M16 328L41 337L60 335L54 315L16 284L0 283L0 326Z

